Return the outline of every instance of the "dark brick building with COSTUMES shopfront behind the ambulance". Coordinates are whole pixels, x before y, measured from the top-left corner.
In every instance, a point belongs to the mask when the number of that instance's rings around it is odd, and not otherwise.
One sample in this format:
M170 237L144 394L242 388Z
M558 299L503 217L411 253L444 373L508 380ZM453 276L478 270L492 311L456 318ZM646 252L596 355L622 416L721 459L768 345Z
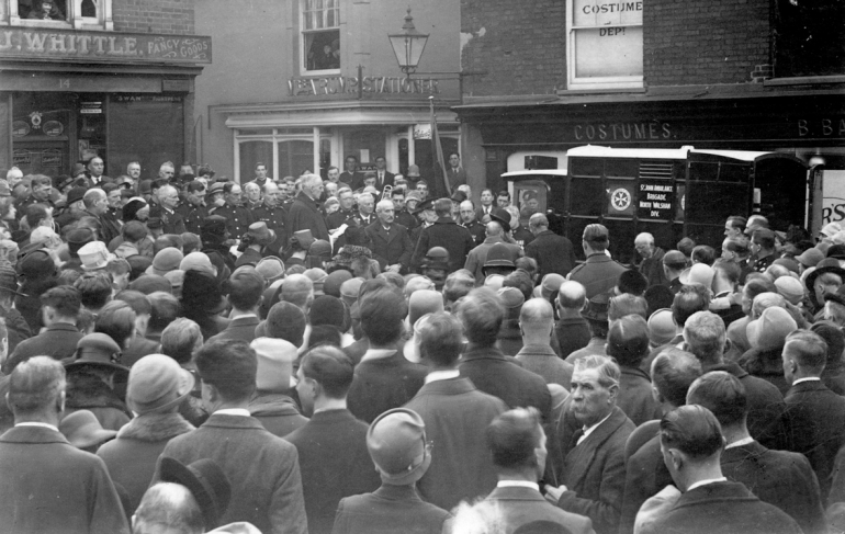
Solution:
M462 0L461 67L486 71L454 107L474 189L587 144L776 150L845 182L843 20L837 0Z

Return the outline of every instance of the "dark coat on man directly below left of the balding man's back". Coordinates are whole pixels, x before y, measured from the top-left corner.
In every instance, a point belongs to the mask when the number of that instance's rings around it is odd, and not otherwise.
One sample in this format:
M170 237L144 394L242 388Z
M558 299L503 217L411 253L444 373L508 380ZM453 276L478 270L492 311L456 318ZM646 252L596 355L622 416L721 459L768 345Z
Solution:
M464 352L461 376L470 378L482 391L498 397L508 408L533 406L549 422L552 414L552 394L538 374L508 362L498 349L481 348Z

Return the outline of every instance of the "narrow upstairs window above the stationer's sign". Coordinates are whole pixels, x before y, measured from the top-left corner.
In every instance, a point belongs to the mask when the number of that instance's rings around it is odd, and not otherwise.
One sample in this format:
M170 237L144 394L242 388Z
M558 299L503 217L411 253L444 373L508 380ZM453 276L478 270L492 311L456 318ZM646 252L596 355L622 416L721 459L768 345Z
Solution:
M302 70L340 69L340 0L301 0Z

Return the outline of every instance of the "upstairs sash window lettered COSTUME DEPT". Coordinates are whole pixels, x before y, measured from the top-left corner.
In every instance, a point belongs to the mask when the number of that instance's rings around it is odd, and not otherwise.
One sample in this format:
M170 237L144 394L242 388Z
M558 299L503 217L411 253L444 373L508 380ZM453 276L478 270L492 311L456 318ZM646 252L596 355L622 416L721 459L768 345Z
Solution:
M566 0L568 89L641 88L643 0Z

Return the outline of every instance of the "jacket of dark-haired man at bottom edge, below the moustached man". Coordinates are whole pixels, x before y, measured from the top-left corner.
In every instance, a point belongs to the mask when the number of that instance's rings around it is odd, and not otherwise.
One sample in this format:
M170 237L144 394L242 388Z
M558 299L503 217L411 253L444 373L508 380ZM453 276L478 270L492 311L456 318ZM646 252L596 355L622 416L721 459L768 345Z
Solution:
M487 497L488 501L498 504L505 523L505 532L511 534L526 523L532 521L549 521L563 525L572 534L593 533L593 522L589 518L570 513L554 507L533 488L508 486L496 488Z

